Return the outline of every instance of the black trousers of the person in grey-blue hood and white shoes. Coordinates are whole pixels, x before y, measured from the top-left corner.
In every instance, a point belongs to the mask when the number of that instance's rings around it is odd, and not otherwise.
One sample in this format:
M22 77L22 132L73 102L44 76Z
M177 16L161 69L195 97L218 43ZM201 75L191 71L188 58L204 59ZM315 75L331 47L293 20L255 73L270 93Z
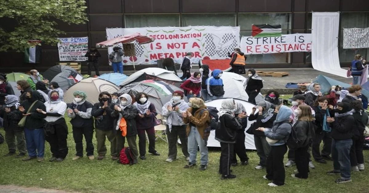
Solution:
M287 145L271 146L268 158L266 158L266 178L273 180L278 186L284 185L286 178L283 157L287 152Z

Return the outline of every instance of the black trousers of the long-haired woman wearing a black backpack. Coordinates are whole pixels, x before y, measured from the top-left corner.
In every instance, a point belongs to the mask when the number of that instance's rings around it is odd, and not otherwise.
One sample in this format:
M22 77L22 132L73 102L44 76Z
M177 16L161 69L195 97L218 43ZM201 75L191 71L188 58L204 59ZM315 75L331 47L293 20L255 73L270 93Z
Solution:
M297 148L295 152L295 162L298 173L297 178L307 178L309 173L309 146Z

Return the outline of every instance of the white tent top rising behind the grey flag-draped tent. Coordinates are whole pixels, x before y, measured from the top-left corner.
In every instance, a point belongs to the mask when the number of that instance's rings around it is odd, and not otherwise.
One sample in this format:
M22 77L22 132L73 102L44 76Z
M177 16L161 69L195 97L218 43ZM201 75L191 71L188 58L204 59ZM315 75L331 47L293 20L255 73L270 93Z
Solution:
M161 69L161 68L145 68L145 69L142 69L142 70L139 70L133 73L131 76L125 79L124 82L120 84L120 86L125 86L131 82L135 82L135 80L138 77L141 77L141 75L143 75L144 73L148 75L158 76L159 78L166 79L166 80L182 81L178 76L174 74L173 71L168 71L168 70Z

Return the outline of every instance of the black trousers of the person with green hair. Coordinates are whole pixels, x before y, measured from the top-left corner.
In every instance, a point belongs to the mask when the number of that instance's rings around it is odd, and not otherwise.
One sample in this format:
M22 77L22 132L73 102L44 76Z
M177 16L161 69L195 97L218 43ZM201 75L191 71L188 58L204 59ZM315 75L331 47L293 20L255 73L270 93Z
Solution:
M83 156L83 135L86 141L87 156L93 155L94 147L92 144L93 127L73 127L73 139L76 143L76 156Z

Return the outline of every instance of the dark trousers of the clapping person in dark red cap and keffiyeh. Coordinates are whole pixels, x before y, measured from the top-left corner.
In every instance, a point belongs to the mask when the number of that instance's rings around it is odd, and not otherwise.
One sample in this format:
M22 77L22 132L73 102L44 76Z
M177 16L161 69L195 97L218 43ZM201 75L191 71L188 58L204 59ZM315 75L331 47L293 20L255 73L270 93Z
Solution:
M166 125L166 135L168 137L168 158L177 159L177 140L181 140L181 148L183 155L187 158L190 156L187 150L187 125L176 126L172 125L172 130L169 131L168 125Z

